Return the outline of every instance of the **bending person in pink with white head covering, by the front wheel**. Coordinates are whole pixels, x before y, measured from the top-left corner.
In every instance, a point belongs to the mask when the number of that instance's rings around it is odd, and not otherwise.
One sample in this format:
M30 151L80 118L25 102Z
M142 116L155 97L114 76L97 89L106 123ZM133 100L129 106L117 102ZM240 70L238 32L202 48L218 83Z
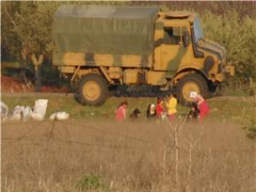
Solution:
M200 110L200 122L210 113L209 105L206 100L198 93L192 91L190 92L189 97L193 99L194 103L197 104L198 109Z

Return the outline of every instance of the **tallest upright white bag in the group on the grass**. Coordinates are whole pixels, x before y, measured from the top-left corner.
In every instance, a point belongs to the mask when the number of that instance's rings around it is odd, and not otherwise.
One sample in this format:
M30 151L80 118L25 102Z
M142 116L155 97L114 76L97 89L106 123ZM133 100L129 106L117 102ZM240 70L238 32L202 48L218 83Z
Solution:
M36 100L35 105L33 107L33 112L31 114L31 118L33 120L43 120L46 114L47 104L48 100Z

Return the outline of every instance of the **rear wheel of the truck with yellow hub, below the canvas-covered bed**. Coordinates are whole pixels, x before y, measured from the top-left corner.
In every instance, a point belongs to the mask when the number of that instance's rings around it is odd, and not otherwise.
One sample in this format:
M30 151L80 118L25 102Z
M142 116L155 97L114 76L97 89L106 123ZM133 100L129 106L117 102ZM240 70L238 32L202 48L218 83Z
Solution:
M78 100L83 105L102 105L108 96L108 86L104 77L96 73L83 76L77 90Z

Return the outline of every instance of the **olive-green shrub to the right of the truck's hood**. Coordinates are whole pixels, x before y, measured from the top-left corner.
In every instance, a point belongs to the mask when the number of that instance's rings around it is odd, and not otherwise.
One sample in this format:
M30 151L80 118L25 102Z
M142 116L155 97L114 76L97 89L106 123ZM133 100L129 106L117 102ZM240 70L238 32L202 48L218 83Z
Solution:
M235 85L256 81L256 19L241 17L235 10L224 15L205 11L200 16L205 37L227 49L227 60L235 67Z

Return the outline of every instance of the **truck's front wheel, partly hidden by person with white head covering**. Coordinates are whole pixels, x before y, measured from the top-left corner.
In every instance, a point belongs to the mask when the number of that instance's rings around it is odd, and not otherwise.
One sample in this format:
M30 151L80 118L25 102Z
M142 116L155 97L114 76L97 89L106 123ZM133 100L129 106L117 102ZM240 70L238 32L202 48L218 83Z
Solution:
M205 98L209 97L207 82L200 73L185 74L184 77L179 80L176 90L180 104L185 106L192 103L192 99L189 98L189 94L192 91L199 93Z

